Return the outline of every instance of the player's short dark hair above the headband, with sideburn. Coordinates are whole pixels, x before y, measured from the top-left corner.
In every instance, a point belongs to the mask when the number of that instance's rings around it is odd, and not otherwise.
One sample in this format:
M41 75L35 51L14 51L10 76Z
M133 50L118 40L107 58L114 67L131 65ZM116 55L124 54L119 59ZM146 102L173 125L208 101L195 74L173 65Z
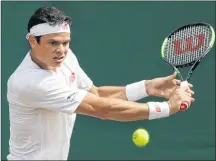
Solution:
M33 26L40 23L48 23L50 26L55 26L63 22L67 22L71 25L71 17L66 16L63 11L55 7L40 7L29 19L28 32L30 32ZM41 36L36 37L38 43L40 43L40 37Z

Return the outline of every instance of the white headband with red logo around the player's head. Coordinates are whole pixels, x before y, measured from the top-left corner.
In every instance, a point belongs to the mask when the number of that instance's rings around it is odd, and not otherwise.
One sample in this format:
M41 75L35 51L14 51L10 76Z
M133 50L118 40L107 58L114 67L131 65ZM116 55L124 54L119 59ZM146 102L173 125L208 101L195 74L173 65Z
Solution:
M61 25L50 26L48 23L42 23L42 24L33 26L30 29L30 33L26 35L26 39L29 38L29 35L42 36L46 34L53 34L53 33L60 33L60 32L70 33L69 24L64 22Z

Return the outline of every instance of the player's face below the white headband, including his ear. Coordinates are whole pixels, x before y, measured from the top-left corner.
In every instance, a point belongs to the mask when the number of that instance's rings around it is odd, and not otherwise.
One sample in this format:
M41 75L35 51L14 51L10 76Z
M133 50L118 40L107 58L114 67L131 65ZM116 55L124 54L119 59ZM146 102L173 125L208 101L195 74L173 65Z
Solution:
M36 59L47 68L56 68L64 61L70 43L69 33L55 33L41 36L40 43L34 41L32 51Z

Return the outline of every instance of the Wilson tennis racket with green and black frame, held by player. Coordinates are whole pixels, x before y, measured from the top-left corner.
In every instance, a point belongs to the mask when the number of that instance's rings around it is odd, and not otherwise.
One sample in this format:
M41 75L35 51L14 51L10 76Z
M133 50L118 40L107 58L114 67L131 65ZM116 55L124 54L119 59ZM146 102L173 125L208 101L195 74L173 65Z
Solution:
M165 38L161 56L177 72L181 87L188 85L193 71L209 53L214 42L213 27L202 22L184 25ZM188 107L188 102L182 102L180 110L184 111Z

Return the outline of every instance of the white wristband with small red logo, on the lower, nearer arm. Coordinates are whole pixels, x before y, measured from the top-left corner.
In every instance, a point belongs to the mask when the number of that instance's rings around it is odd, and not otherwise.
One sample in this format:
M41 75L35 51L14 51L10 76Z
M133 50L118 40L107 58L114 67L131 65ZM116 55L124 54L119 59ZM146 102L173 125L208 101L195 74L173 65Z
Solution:
M168 117L170 107L167 102L148 102L149 120Z

